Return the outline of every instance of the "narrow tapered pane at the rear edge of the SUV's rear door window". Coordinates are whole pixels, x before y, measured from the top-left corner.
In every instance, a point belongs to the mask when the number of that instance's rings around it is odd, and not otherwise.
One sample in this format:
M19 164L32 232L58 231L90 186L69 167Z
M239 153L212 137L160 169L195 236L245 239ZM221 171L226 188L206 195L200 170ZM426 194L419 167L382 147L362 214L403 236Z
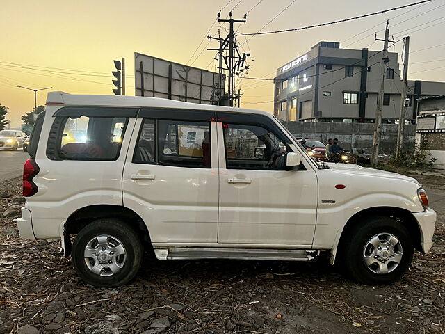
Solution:
M156 162L156 145L154 142L154 120L145 119L134 151L133 162L136 164L150 164Z

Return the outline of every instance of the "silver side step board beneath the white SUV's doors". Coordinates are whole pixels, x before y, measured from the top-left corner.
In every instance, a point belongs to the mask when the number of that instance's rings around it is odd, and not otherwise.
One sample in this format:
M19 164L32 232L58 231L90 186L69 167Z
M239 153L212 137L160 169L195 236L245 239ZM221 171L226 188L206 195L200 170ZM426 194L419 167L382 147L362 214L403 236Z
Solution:
M236 259L315 261L318 260L320 250L184 247L154 248L154 253L159 260Z

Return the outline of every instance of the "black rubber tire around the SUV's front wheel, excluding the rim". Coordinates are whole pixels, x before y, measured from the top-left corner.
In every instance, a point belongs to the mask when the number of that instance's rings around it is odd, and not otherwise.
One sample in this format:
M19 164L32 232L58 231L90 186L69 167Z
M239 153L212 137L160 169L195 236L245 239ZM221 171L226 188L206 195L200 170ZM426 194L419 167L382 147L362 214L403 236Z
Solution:
M405 271L407 271L412 261L412 255L414 253L414 246L410 233L407 228L398 221L384 217L375 216L367 218L364 221L359 221L350 230L346 231L345 238L342 238L340 262L339 267L346 270L346 272L359 282L369 285L381 285L393 283L399 280ZM394 263L389 260L387 267L391 268L388 273L375 273L372 269L379 270L378 262L371 264L371 269L365 263L364 253L365 246L368 245L368 241L378 234L392 234L400 241L397 248L403 249L403 255L400 262L394 269ZM371 247L371 250L373 248ZM372 253L372 251L370 252ZM385 262L383 262L385 264ZM391 265L391 267L389 267ZM375 266L375 267L374 267Z

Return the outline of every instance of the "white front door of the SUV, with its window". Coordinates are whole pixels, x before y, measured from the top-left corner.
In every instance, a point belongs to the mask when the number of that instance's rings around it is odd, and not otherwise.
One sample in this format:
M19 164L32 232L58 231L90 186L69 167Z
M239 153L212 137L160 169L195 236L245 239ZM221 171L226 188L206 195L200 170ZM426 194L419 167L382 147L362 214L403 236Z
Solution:
M218 243L309 247L316 224L317 181L312 168L286 170L297 151L267 116L220 115Z

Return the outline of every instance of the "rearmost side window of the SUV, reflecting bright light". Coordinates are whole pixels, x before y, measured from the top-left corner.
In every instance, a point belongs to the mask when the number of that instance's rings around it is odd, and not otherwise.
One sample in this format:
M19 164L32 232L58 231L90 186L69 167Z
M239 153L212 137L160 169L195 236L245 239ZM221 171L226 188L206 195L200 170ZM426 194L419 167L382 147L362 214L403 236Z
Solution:
M63 117L57 155L63 160L118 159L128 118Z

